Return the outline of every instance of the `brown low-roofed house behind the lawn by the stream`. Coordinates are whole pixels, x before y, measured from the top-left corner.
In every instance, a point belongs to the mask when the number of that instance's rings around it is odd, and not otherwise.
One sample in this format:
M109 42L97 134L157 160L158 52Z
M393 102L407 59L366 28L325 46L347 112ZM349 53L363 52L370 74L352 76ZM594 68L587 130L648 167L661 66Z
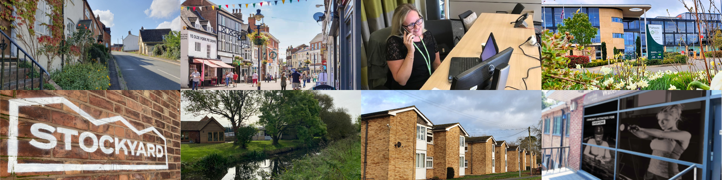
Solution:
M223 143L225 128L214 117L181 121L181 143Z

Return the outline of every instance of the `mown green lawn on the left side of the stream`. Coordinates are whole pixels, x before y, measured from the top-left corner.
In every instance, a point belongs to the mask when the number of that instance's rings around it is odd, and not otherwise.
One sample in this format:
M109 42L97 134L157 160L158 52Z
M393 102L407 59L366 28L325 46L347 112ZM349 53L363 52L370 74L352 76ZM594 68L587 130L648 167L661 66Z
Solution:
M272 140L253 140L248 144L248 149L240 148L240 145L230 143L203 143L203 144L181 144L181 161L191 161L193 158L201 158L210 153L219 153L229 156L238 153L245 153L249 150L275 150L279 148L295 147L301 145L300 140L279 140L280 145L271 145Z

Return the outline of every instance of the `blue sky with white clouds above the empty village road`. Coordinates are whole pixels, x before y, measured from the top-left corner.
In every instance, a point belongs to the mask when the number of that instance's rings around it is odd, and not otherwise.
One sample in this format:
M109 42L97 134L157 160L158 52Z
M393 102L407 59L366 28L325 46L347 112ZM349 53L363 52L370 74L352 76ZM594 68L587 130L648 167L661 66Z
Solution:
M163 24L161 28L170 28L170 23L181 14L181 2L179 0L88 0L93 13L100 15L100 21L106 27L110 27L113 44L118 43L118 38L126 37L129 30L133 35L138 35L140 27L156 29ZM180 24L180 19L177 22ZM175 28L178 29L180 27Z

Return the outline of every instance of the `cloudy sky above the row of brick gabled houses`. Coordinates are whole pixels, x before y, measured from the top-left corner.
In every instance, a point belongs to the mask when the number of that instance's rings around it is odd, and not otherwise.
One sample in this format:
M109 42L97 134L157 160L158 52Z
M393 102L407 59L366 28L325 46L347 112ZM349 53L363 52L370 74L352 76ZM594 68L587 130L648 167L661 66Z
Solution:
M361 94L361 114L415 105L435 125L459 122L470 135L493 135L496 140L516 141L520 135L526 137L529 134L526 129L510 129L536 125L541 117L541 91L362 91ZM521 133L515 135L518 132ZM506 136L510 137L503 138Z

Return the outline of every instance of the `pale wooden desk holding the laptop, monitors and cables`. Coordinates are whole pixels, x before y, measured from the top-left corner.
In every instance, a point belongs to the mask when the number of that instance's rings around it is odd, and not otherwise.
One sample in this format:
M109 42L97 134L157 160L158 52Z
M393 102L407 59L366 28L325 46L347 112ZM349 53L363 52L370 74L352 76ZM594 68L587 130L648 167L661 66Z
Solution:
M509 77L506 86L512 86L516 89L524 90L524 82L521 78L526 77L526 70L532 67L540 66L539 48L531 46L528 43L521 45L527 38L534 35L534 30L521 27L514 28L514 24L510 22L516 21L520 14L497 14L482 13L474 25L471 26L463 38L456 44L455 48L449 52L446 58L441 62L439 68L431 75L426 84L421 87L422 90L430 90L438 88L442 90L451 89L451 83L448 81L448 69L452 57L479 57L482 54L482 43L487 42L489 34L494 32L499 50L506 48L514 48L513 55L509 60ZM529 14L526 23L530 26L534 24L534 18ZM531 27L530 27L531 28ZM521 45L526 55L524 55L518 46ZM529 90L541 90L541 68L534 68L529 71L529 78L526 78L526 86ZM511 88L506 88L510 90ZM513 90L513 89L512 89Z

